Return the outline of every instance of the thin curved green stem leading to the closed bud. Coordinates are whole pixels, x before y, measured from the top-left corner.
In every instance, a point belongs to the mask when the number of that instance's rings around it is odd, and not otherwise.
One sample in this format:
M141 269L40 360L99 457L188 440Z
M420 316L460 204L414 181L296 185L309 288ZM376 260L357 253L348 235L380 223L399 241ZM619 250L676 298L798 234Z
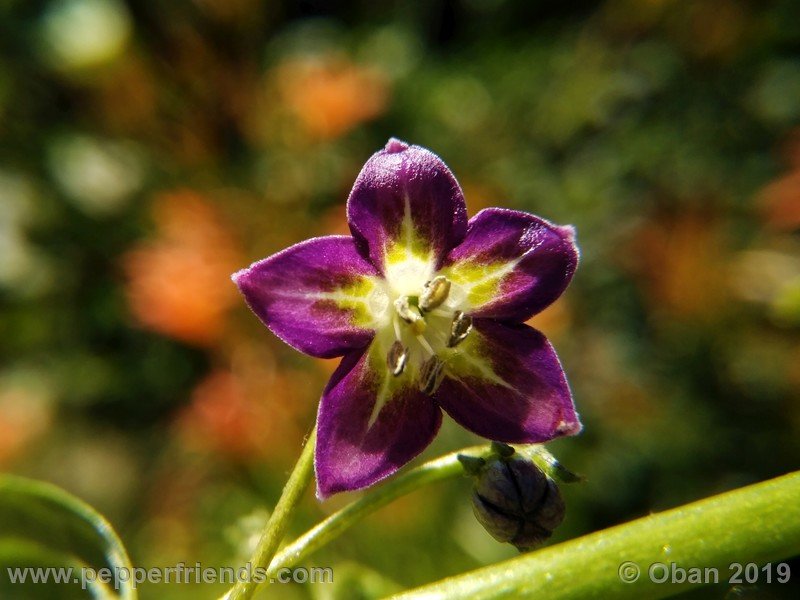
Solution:
M400 496L430 483L463 476L464 468L457 458L459 454L487 456L490 452L491 448L488 444L464 448L426 462L397 475L383 485L368 490L358 500L335 512L281 550L270 565L269 576L274 577L278 569L296 565L312 552L339 537L367 515Z

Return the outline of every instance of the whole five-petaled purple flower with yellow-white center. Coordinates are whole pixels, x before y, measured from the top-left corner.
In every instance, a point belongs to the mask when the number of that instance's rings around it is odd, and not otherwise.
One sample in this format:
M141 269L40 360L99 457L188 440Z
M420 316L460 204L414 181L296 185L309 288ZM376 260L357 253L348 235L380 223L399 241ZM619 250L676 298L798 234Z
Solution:
M571 227L502 208L467 221L447 166L396 139L347 202L353 236L306 240L233 280L290 346L343 356L317 418L317 495L366 487L433 440L442 409L483 437L581 429L547 339L523 323L578 264Z

